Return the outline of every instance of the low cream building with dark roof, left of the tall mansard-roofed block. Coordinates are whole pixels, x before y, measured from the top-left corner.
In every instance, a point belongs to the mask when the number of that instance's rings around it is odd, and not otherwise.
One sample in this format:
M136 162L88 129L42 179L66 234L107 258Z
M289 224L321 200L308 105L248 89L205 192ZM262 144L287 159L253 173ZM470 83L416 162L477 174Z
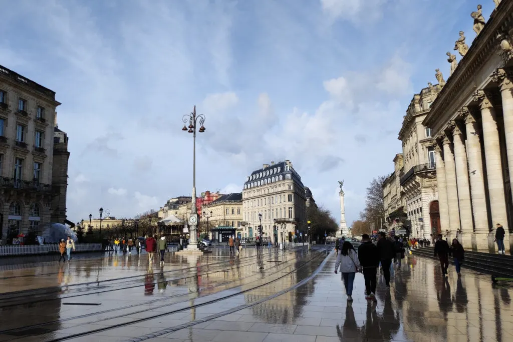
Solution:
M205 212L206 215L203 215ZM207 218L208 227L207 227ZM242 233L242 193L236 192L227 195L223 195L218 199L214 200L208 205L203 206L203 211L200 217L202 231L209 231L209 238L219 240L220 242L225 241L227 238L223 238L225 231L232 232L237 236L243 237ZM231 227L231 229L226 229Z

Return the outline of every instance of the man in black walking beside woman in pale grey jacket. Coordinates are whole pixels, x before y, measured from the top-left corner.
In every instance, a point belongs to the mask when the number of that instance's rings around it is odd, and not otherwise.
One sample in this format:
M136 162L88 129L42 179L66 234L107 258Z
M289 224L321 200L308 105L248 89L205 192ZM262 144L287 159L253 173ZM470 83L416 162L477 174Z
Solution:
M380 264L378 248L370 241L369 235L362 235L362 244L358 247L358 259L362 265L363 277L365 279L365 299L376 299L376 276Z

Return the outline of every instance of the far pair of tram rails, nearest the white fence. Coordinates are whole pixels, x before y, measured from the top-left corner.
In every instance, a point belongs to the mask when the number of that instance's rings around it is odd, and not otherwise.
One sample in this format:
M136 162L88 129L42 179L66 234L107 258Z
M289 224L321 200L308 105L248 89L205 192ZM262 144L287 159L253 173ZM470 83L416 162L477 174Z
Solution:
M247 257L240 258L240 260L241 259L245 259L245 260L251 260L252 261L252 258L253 258L252 256L247 256ZM220 270L215 270L214 271L214 270L209 270L208 268L212 267L212 266L215 266L215 267L223 266L223 265L229 264L229 263L230 263L230 260L223 260L223 261L220 261L218 263L212 263L212 264L208 264L208 265L203 265L203 267L207 266L207 271L206 272L219 272ZM245 266L245 265L246 264L244 264L243 266ZM196 269L196 266L191 266L191 267L185 267L185 268L181 268L181 269L174 269L174 270L164 271L164 274L170 274L170 273L181 272L181 271L185 271L185 272L186 271L194 271L195 269ZM154 273L151 273L151 274L152 275L159 275L159 274L161 274L161 272L154 272ZM206 274L206 273L204 273L204 274ZM91 291L91 290L94 290L94 289L98 289L100 287L100 284L111 283L113 281L119 281L123 285L127 285L126 281L128 279L134 279L134 281L132 281L130 284L137 284L137 286L140 286L141 280L144 280L144 278L147 275L148 275L148 273L144 273L144 274L128 276L128 277L122 277L122 278L105 279L105 280L99 280L99 281L88 281L87 283L71 284L71 285L68 285L67 287L73 287L71 290L75 290L76 291L75 293L78 293L80 291ZM184 278L188 278L188 277L176 278L176 279L173 279L173 280L181 280L181 279L184 279ZM94 287L94 289L92 289L92 288L88 287L90 285L96 285L96 286ZM118 284L113 284L111 286L115 286L115 285L118 285ZM81 286L87 286L87 288L75 289L75 287L81 287ZM137 287L137 286L134 286L134 287ZM59 287L62 287L62 285L59 285ZM82 296L82 295L88 295L88 294L96 294L96 293L103 293L103 292L106 292L106 291L108 292L108 291L115 291L115 290L129 289L129 288L132 288L132 287L123 287L123 288L120 288L120 289L108 289L108 290L104 290L104 291L96 291L96 292L92 292L92 293L82 293L82 294L71 295L71 296L61 296L61 297L55 298L55 299L70 298L70 297L76 297L76 296ZM105 287L103 287L103 289L105 289ZM37 296L49 296L49 295L52 295L52 294L61 294L61 293L70 291L70 289L66 289L66 290L58 289L58 290L55 290L55 291L45 291L45 290L47 290L47 288L30 289L30 290L22 290L22 291L13 291L13 292L2 293L2 294L0 294L0 303L2 303L2 304L0 304L0 309L6 308L6 307L9 307L9 306L12 306L12 305L19 305L20 304L20 303L15 303L15 304L3 305L4 303L6 303L6 300L11 301L13 299L30 297L31 298L30 303L38 303L38 301L34 301L33 300L34 296L36 296L36 297ZM11 296L13 294L14 294L14 296ZM71 294L73 294L73 293L71 293Z

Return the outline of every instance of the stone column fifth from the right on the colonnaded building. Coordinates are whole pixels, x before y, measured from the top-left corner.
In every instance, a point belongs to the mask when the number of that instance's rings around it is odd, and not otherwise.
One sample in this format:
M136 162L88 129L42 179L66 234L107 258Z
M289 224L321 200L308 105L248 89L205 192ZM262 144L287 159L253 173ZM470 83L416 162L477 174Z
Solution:
M456 165L454 154L452 153L451 143L447 136L444 136L444 163L445 163L445 183L447 186L447 206L449 207L449 231L452 236L460 226L460 206L458 203L458 185L456 183ZM445 234L445 232L442 232Z

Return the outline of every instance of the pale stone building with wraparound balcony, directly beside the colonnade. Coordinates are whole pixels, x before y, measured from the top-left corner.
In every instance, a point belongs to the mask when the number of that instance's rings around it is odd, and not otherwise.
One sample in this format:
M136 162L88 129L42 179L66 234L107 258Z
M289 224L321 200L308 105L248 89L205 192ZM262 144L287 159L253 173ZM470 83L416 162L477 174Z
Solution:
M400 172L401 196L410 236L431 239L440 232L435 149L431 129L422 125L440 85L428 84L413 95L399 131L403 146L404 166Z

